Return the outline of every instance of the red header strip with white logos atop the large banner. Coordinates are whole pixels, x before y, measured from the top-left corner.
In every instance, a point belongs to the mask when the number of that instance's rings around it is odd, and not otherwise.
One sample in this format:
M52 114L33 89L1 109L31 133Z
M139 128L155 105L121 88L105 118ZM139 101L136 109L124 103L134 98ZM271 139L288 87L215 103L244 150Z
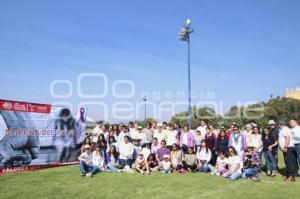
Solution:
M50 113L51 105L0 99L0 110L34 112L34 113Z

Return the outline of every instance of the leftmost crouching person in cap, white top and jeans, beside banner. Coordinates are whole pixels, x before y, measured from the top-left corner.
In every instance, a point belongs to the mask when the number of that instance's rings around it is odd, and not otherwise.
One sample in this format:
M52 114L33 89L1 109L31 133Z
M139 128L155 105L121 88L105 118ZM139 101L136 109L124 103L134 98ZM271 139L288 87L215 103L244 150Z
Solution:
M78 157L80 161L80 171L81 176L85 176L86 173L91 172L92 170L92 153L90 145L86 144L84 146L84 152L80 154Z

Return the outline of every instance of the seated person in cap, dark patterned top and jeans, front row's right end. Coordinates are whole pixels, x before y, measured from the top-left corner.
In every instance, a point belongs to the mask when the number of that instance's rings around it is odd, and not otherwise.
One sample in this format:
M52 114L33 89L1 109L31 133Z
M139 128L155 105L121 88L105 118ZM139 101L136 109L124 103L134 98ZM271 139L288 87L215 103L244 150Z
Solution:
M261 161L255 150L256 146L249 143L243 155L243 178L260 180L259 173L261 172Z

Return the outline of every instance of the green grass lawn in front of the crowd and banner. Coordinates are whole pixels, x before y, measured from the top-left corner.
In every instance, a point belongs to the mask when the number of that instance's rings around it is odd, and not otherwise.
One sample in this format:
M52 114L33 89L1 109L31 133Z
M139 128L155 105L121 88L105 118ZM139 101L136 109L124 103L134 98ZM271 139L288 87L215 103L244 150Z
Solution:
M0 176L0 198L300 198L300 179L231 181L210 174L101 173L81 177L78 165Z

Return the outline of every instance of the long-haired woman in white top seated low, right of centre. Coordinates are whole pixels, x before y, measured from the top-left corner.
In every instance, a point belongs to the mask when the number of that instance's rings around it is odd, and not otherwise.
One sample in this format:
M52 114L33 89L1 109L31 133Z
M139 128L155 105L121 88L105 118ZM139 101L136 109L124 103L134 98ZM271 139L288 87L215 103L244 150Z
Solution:
M199 172L207 173L209 168L208 164L211 159L211 151L206 146L206 141L202 140L200 148L197 151L197 158L198 158L198 170Z

